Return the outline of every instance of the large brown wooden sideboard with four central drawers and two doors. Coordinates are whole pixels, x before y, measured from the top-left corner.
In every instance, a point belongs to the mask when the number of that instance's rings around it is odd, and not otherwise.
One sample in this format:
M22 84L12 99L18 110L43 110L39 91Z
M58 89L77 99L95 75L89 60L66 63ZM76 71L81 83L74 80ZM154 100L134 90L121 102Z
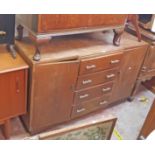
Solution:
M113 45L113 32L56 37L34 61L29 38L16 42L30 66L28 113L31 134L111 106L131 95L148 44L124 33ZM137 59L138 58L138 59Z

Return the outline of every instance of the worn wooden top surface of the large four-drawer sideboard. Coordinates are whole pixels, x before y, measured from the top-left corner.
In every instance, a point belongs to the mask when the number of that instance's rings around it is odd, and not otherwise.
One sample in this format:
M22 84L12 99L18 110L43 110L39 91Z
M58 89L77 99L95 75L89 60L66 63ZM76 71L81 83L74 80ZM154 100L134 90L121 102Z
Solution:
M112 31L54 37L50 43L42 46L41 60L38 62L32 59L35 53L35 46L29 38L24 38L21 42L17 41L16 46L18 51L31 64L38 64L106 55L124 49L148 45L144 41L138 42L136 37L127 32L122 35L119 47L113 45L112 38Z

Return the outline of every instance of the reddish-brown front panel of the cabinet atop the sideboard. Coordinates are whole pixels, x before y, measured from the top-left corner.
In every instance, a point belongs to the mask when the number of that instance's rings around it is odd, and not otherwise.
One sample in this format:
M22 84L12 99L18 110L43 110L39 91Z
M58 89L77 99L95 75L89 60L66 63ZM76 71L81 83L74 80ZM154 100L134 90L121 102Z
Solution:
M88 27L108 27L124 25L127 15L119 14L41 14L38 32L52 32Z

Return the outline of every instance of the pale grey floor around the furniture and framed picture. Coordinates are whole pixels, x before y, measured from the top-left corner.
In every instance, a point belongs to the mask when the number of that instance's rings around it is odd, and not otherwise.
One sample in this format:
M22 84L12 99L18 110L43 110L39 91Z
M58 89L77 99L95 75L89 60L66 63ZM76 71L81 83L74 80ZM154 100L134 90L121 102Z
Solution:
M139 99L141 97L148 98L147 102L141 102ZM119 105L113 106L109 109L103 110L95 116L90 116L87 119L77 121L76 124L84 123L85 121L96 121L98 119L108 118L111 115L118 118L115 132L113 132L112 140L124 139L124 140L134 140L142 128L145 121L147 113L153 103L155 95L150 91L146 90L143 86L140 87L133 102L123 102ZM11 139L27 139L30 135L24 130L20 120L18 118L12 119L12 133ZM72 124L68 124L72 125ZM65 125L59 125L56 128L62 128ZM31 137L32 139L37 139L37 135ZM0 139L4 139L2 133L0 132Z

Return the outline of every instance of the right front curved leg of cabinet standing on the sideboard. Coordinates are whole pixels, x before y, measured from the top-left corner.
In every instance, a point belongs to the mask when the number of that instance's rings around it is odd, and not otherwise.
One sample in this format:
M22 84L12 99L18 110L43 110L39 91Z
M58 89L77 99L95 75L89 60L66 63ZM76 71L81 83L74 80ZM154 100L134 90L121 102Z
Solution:
M121 40L121 35L123 34L124 30L120 30L120 29L114 29L114 38L113 38L113 44L115 46L119 46L120 45L120 40Z

